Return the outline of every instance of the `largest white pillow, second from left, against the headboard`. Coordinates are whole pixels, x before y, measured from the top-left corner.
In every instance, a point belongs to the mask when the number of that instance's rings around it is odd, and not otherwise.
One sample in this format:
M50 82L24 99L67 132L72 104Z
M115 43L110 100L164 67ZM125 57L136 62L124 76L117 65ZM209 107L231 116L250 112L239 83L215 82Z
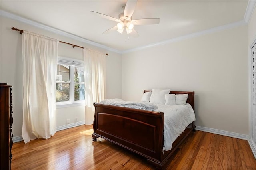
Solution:
M165 96L166 94L170 93L170 89L159 90L159 89L152 89L152 93L149 99L151 103L159 103L165 104Z

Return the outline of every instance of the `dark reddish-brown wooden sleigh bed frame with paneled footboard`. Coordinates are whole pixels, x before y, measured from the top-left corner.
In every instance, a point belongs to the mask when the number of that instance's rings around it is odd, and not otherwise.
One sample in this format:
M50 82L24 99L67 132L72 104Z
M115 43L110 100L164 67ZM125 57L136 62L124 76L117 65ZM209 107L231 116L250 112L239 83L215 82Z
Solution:
M148 92L148 91L144 91ZM194 109L194 92L170 91L170 94L188 94L187 103ZM168 158L182 141L195 130L192 122L173 142L172 150L164 151L164 113L94 103L95 115L92 140L98 137L118 144L147 158L158 169L168 165Z

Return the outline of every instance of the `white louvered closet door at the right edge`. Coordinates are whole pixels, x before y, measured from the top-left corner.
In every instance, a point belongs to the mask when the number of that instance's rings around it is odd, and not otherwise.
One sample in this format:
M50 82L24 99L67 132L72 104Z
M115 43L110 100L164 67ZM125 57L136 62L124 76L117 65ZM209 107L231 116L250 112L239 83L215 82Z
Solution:
M252 140L256 144L256 44L252 47Z

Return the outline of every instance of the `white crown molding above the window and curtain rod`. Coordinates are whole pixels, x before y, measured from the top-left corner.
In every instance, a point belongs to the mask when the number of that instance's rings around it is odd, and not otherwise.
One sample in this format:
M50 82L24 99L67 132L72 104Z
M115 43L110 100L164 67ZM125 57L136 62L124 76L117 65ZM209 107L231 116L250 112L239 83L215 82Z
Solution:
M92 42L90 40L87 40L85 38L82 38L82 37L79 37L79 36L76 36L74 34L70 34L68 32L64 32L62 30L59 30L59 29L56 29L56 28L53 28L53 27L50 27L50 26L46 26L44 24L41 24L39 22L35 22L35 21L32 21L32 20L28 20L26 18L23 18L23 17L20 17L20 16L17 16L15 14L12 14L10 12L6 12L4 10L0 10L0 16L4 16L4 17L7 17L7 18L11 18L13 20L17 20L17 21L20 21L20 22L23 22L25 24L29 24L31 26L35 26L35 27L38 27L38 28L41 28L43 30L47 30L47 31L50 31L50 32L53 32L53 33L56 33L56 34L59 34L59 35L62 35L62 36L65 36L65 37L68 37L68 38L72 38L74 40L78 40L80 42L84 42L84 43L88 43L90 45L94 45L96 47L100 47L100 48L103 48L103 49L106 49L108 51L113 51L115 53L122 53L122 51L119 51L117 49L113 49L113 48L110 48L110 47L107 47L105 45L102 45L102 44L99 44L99 43L96 43L96 42Z

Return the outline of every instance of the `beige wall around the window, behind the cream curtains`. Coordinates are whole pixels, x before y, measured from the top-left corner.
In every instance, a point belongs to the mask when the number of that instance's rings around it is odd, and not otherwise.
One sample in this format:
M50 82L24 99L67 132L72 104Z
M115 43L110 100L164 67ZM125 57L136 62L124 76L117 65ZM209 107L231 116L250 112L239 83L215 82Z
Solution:
M121 98L121 54L1 16L0 82L7 82L13 88L14 123L12 134L14 137L22 135L22 35L11 30L10 28L13 26L108 53L109 55L106 57L106 98ZM64 43L59 43L58 55L83 60L81 48L72 48ZM74 123L75 117L78 118L78 122L84 121L83 106L56 109L56 126L66 125L66 119L70 119L70 123Z

